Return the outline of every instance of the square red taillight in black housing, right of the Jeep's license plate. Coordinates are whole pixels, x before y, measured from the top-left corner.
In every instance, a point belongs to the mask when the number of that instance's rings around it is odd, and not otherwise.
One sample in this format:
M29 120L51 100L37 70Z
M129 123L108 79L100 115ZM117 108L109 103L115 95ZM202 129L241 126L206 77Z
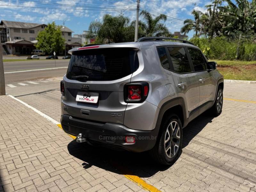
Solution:
M149 85L146 82L126 84L124 86L125 102L142 102L148 96Z

